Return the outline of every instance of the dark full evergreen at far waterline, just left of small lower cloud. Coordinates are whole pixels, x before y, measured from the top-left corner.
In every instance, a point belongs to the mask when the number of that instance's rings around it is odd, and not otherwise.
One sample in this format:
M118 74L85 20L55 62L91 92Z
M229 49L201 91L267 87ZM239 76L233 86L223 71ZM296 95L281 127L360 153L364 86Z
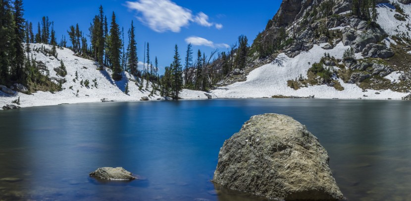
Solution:
M175 100L178 99L178 95L183 89L183 72L180 60L180 54L178 53L178 46L176 44L174 48L174 60L170 66L172 70L172 95Z

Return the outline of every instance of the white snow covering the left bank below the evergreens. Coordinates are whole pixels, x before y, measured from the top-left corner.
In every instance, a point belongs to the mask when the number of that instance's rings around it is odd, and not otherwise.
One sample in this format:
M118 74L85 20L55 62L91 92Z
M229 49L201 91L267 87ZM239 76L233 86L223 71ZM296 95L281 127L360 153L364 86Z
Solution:
M50 45L45 44L31 44L30 47L33 50L34 48L41 48L42 45L47 49L51 49ZM52 56L46 56L41 52L32 51L32 53L37 62L41 61L47 66L51 78L61 78L57 76L53 70L54 68L60 67L60 61ZM140 91L139 86L135 84L136 78L128 73L123 72L123 79L114 81L111 79L110 69L106 68L105 71L99 71L94 61L74 56L74 53L70 49L57 48L57 53L57 58L63 60L67 70L67 75L64 77L67 82L62 84L62 91L55 93L38 91L32 95L23 93L6 95L0 91L0 106L11 104L11 102L18 97L20 97L21 107L32 107L66 103L102 102L102 99L106 99L106 101L138 101L141 97L149 96L151 93L151 83L149 83L148 90L145 90L145 87L143 87ZM78 73L78 80L75 80L76 71ZM80 84L81 80L89 80L90 87L82 86ZM96 80L97 87L94 86L93 80ZM129 83L129 95L124 93L127 82ZM146 86L146 80L144 80L144 86ZM157 94L159 94L158 91ZM187 97L184 96L185 94L187 94ZM204 92L197 93L190 90L184 90L182 97L207 99ZM151 100L156 100L157 98L160 98L160 96L154 95L150 97Z

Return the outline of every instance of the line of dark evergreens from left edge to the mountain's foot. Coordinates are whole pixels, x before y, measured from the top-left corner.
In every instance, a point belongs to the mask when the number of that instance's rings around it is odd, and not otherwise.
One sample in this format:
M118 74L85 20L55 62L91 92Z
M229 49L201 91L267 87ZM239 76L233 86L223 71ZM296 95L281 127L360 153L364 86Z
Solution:
M160 95L173 98L178 98L183 88L211 89L233 69L244 69L250 54L245 36L240 36L238 42L227 51L213 50L208 56L201 50L194 53L192 45L188 44L183 61L176 45L173 62L165 67L164 75L160 76L158 59L156 56L152 59L148 42L144 45L143 67L139 69L134 22L131 21L130 29L125 32L124 28L120 29L114 12L111 13L111 20L107 19L103 6L100 6L87 32L75 24L68 27L67 40L63 34L57 42L54 22L49 17L44 16L37 23L35 32L34 24L23 18L22 0L0 0L0 3L0 84L4 85L17 82L29 88L31 85L52 85L49 76L43 75L37 68L30 43L51 45L51 50L42 46L34 51L54 56L57 60L57 48L70 48L77 56L96 61L100 70L111 69L113 80L121 80L122 72L126 71L138 78L136 84L140 90L147 90L151 82L152 95L160 91ZM128 44L125 44L124 35Z

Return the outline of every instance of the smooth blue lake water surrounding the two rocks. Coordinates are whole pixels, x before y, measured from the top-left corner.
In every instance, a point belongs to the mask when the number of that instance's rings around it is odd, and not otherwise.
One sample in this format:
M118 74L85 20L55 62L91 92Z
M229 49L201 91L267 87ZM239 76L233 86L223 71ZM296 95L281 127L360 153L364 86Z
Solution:
M307 125L351 201L411 199L411 102L245 99L0 111L0 200L259 201L214 186L224 140L253 115ZM141 180L88 174L122 166Z

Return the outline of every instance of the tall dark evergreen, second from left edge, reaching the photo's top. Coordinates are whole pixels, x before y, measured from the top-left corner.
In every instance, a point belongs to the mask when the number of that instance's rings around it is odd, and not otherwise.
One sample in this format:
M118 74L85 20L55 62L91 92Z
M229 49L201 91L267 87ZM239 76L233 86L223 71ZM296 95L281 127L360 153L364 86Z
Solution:
M25 82L24 61L25 50L23 46L25 32L24 25L26 20L23 18L23 1L14 1L14 37L12 38L14 44L14 58L12 59L11 67L13 69L13 80L18 82Z

